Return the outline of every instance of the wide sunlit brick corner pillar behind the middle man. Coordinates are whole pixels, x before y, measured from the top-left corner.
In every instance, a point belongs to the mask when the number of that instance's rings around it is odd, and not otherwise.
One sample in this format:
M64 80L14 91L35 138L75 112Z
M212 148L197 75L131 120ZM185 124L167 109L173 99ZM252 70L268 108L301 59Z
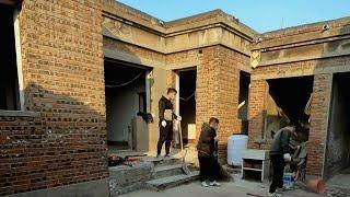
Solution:
M201 63L197 70L197 134L202 123L210 117L220 120L219 154L226 157L228 138L241 132L237 119L240 69L238 65L248 65L249 58L222 46L203 49Z

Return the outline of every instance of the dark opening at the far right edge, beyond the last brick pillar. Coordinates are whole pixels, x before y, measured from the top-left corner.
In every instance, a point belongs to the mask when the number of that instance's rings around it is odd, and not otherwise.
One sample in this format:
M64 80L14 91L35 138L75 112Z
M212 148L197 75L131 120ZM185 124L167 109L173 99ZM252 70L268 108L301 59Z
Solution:
M349 84L349 72L334 76L326 148L326 177L350 167Z

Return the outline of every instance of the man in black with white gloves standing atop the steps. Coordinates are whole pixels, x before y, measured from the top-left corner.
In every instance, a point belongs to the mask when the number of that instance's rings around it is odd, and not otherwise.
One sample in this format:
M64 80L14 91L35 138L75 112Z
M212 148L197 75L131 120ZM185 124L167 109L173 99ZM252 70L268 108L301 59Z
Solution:
M165 142L165 157L170 155L171 144L173 140L173 121L182 120L180 116L174 114L172 101L175 99L177 91L167 89L166 95L163 95L159 102L160 112L160 139L158 141L156 158L161 157L163 143Z

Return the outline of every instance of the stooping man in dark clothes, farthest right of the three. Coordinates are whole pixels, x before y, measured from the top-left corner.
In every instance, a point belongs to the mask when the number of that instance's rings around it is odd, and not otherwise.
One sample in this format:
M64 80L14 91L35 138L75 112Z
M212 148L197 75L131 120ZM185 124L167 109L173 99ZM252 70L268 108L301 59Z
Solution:
M275 135L271 150L270 160L273 169L273 178L269 189L269 196L279 197L276 193L277 188L283 188L283 171L285 162L291 162L290 139L292 135L296 136L295 127L287 126Z

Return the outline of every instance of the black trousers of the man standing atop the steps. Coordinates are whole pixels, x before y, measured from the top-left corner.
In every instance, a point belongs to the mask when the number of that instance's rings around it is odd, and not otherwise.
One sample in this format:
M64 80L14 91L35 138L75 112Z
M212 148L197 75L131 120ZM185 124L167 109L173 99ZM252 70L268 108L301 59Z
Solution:
M156 146L156 154L161 154L164 142L165 142L165 153L168 154L171 152L172 140L173 140L173 123L166 121L165 127L163 127L160 124L160 139Z

